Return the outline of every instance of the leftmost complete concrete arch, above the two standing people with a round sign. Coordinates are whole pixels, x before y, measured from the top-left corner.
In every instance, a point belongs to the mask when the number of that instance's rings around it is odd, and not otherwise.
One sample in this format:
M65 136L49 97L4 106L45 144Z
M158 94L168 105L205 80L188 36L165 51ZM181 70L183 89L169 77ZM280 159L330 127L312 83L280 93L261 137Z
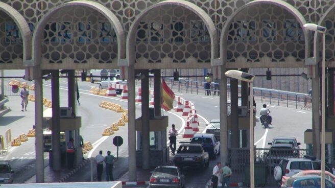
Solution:
M49 19L55 15L55 13L62 8L65 7L70 7L70 6L84 6L88 7L91 9L94 9L101 14L103 14L108 21L111 23L112 27L115 30L116 33L116 38L117 38L117 60L119 59L124 59L126 57L126 51L125 51L125 31L123 29L123 26L121 25L121 22L117 19L115 14L113 14L109 9L104 7L103 5L99 3L95 3L92 1L73 1L73 2L68 2L62 5L59 5L55 8L53 8L50 12L46 13L42 19L38 22L38 25L34 31L33 34L33 60L34 60L34 65L38 65L41 63L41 41L43 38L43 30L44 27L49 21Z

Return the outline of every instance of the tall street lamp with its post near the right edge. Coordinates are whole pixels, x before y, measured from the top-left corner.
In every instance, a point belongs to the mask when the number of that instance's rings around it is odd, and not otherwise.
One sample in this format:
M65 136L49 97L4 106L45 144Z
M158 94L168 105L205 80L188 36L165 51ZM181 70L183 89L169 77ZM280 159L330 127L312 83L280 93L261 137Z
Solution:
M322 106L322 111L321 111L321 187L324 188L325 187L325 130L326 130L326 124L325 124L325 69L326 69L326 63L325 63L325 43L326 43L326 30L327 28L322 27L322 26L318 26L314 23L306 23L304 25L304 28L306 28L307 30L312 30L318 33L322 34L322 102L321 102L321 106ZM314 50L316 43L314 43ZM319 133L318 133L319 134Z

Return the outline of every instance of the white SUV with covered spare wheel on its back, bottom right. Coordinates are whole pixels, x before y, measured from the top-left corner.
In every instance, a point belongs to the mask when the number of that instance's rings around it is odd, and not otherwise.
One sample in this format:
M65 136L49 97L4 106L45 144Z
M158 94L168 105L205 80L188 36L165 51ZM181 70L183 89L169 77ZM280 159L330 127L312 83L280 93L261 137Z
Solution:
M332 173L331 168L326 164L326 171ZM281 180L282 176L291 177L303 170L321 170L321 160L314 156L305 155L304 158L282 159L279 166L274 168L273 176L276 181Z

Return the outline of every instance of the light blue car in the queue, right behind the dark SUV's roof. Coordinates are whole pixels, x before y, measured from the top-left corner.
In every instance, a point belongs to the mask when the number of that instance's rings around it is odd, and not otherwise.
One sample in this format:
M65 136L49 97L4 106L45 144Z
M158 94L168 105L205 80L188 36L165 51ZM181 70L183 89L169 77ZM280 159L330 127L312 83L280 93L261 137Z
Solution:
M220 142L214 134L197 133L191 139L191 143L202 143L210 158L216 159L220 155Z

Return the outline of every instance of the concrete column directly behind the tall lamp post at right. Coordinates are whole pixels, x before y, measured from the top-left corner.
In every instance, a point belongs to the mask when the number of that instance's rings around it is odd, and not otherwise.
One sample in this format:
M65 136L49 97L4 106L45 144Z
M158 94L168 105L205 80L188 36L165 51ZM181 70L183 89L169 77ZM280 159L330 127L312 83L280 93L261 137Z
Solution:
M314 67L315 78L312 78L312 128L313 128L313 155L321 159L320 144L320 79L319 66Z

